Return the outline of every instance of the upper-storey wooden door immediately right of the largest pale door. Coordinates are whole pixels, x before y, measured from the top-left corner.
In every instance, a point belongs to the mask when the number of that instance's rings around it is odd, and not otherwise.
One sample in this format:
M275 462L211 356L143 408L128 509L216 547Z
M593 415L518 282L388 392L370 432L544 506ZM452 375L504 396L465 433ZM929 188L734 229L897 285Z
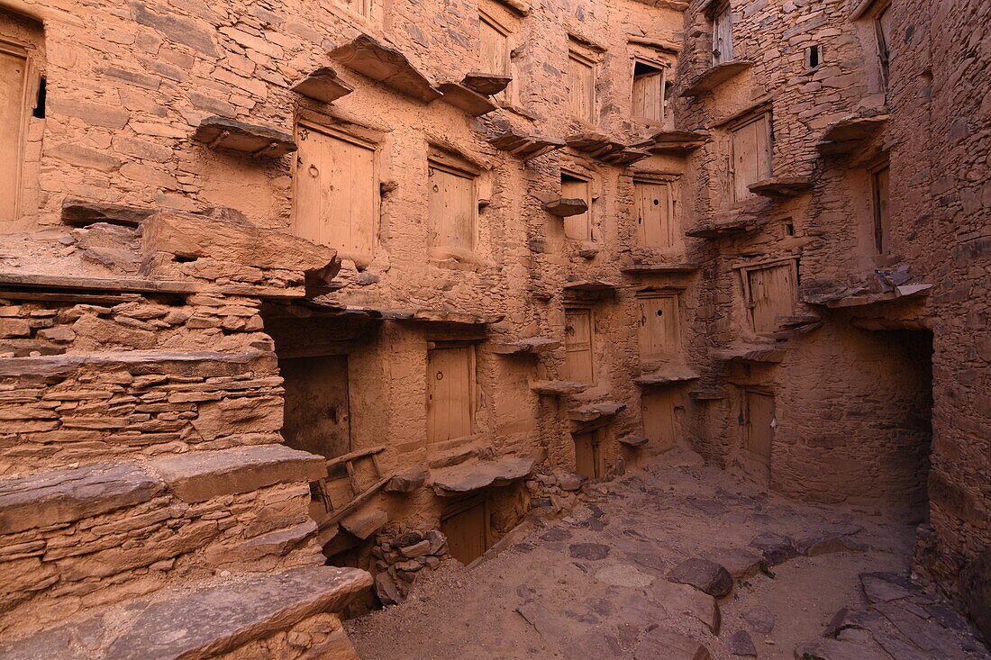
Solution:
M430 245L475 248L475 179L430 165Z

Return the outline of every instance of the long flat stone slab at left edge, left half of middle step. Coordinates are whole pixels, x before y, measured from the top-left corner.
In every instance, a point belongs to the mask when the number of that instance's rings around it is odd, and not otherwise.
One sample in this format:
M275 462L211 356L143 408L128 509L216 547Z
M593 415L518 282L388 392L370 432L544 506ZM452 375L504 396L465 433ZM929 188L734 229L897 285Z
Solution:
M163 483L144 468L97 463L0 480L0 534L46 527L148 501Z

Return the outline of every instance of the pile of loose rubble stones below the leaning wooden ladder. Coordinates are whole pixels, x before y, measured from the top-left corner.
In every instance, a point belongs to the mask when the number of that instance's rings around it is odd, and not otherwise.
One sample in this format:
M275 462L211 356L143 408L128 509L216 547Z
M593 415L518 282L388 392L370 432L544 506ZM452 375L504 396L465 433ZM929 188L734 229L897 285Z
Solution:
M437 529L380 534L372 554L378 570L375 591L383 605L404 601L421 571L436 570L450 556L447 537Z

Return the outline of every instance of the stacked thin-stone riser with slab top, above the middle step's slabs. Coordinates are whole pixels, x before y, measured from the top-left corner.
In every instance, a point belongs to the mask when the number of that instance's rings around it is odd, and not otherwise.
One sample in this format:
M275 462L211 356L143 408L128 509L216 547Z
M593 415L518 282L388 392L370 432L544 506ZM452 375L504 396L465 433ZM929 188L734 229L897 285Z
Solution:
M0 369L0 474L281 442L272 354L89 354Z

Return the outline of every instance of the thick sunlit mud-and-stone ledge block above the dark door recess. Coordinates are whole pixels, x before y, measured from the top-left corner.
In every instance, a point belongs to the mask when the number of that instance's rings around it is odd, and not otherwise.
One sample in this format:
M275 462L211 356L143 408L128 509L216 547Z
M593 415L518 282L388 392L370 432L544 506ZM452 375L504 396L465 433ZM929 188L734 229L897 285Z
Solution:
M337 251L273 229L179 211L160 211L145 221L142 252L183 259L213 259L261 269L337 274Z

